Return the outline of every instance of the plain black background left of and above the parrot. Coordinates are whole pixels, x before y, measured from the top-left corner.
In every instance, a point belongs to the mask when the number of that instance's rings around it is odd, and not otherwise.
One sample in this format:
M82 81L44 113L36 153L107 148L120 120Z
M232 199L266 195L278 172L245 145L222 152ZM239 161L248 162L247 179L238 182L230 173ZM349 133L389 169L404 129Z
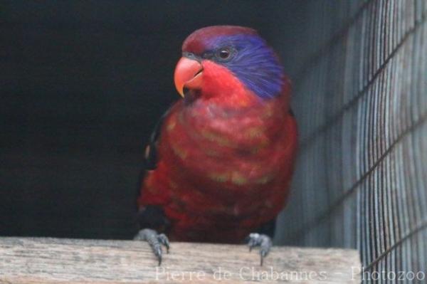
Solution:
M132 237L144 143L179 99L184 38L251 26L287 69L305 4L1 1L0 235Z

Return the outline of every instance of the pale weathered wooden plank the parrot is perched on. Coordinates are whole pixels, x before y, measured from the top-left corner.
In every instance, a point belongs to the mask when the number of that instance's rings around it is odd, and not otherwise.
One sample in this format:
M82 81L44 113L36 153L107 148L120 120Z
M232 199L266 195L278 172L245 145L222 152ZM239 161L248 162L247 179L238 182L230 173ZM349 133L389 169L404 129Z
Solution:
M0 283L360 283L359 253L172 243L161 267L139 241L0 238Z

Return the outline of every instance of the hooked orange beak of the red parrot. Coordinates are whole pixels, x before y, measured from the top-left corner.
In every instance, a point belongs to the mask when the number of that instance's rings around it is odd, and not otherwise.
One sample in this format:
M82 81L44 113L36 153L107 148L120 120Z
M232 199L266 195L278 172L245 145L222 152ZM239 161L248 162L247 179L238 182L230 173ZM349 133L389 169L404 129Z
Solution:
M175 88L184 97L184 88L200 89L203 81L203 66L199 61L182 57L176 63L174 74Z

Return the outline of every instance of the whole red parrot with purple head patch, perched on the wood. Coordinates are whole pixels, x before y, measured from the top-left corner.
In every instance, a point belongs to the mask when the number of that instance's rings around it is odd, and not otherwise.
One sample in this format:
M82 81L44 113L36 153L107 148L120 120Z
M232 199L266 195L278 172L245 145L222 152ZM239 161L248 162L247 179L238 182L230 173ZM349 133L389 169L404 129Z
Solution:
M297 152L290 81L275 52L241 26L210 26L182 46L183 97L146 148L136 239L162 260L169 241L271 246ZM167 235L167 236L166 236Z

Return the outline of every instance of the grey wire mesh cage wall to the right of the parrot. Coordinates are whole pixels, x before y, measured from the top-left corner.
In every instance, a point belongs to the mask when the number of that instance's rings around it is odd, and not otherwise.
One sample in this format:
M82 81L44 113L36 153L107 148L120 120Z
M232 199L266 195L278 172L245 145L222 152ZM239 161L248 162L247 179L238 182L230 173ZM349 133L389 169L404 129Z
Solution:
M307 3L303 48L288 55L301 147L278 243L425 272L426 16L425 0Z

